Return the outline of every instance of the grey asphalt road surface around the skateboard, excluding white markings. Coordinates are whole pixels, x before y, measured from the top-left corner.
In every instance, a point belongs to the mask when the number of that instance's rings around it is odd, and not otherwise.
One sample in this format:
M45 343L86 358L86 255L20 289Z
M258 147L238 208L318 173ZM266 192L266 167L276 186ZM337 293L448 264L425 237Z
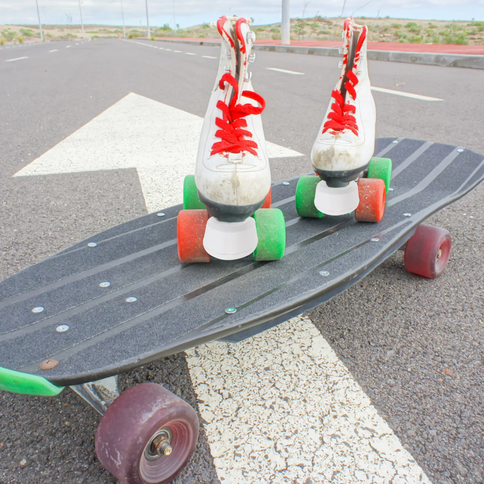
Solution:
M129 92L203 117L217 66L203 56L217 57L218 48L171 47L182 52L118 40L0 49L1 278L145 213L134 169L12 175ZM8 61L20 57L26 59ZM310 170L337 62L257 52L253 83L267 103L266 138L306 155L277 160L274 180ZM370 61L369 69L374 86L443 99L374 92L377 136L484 153L482 71L381 61ZM454 237L439 279L405 272L397 253L309 315L433 483L484 481L483 205L480 186L430 219ZM163 382L196 407L184 355L123 375L121 387L146 380ZM116 482L94 454L99 415L74 393L49 399L1 393L0 402L0 483ZM218 482L203 430L176 482Z

